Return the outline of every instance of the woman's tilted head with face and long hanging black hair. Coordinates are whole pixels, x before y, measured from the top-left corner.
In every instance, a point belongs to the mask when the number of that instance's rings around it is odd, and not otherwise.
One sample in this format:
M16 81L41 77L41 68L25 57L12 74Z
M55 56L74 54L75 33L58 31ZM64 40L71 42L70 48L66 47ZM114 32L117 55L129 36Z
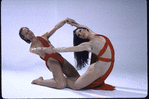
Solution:
M83 42L88 42L88 34L89 30L84 27L78 27L73 31L73 45L77 46ZM77 68L82 69L88 63L89 52L82 51L82 52L74 52L74 57L77 61Z

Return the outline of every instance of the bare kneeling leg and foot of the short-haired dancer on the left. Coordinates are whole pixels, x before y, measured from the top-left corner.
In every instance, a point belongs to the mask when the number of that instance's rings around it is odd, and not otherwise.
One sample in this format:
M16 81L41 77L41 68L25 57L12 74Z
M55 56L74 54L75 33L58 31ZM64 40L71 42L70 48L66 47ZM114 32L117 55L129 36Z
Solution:
M59 62L55 59L49 58L47 64L50 67L51 72L53 73L54 79L44 80L42 77L39 77L38 79L33 80L32 84L43 85L58 89L65 88L66 79L63 75Z

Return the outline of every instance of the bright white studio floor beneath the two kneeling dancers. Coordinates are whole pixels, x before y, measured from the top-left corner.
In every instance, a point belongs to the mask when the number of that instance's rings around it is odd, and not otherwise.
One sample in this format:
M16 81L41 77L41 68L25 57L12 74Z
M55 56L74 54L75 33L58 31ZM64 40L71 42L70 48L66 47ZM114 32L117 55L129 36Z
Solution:
M85 72L86 68L79 71ZM147 96L147 77L128 76L114 72L106 83L116 87L114 91L53 89L32 85L31 81L40 76L52 78L46 67L30 71L2 70L2 97L4 98L144 98Z

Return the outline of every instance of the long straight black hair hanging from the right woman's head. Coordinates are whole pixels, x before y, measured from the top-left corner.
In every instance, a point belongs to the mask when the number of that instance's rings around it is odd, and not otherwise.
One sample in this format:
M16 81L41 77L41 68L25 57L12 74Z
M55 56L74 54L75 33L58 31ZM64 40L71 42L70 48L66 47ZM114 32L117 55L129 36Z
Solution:
M81 39L76 35L77 29L87 29L85 27L78 27L73 31L73 45L77 46L83 42L88 42L88 39ZM89 31L87 29L87 31ZM74 52L74 58L77 61L77 68L82 69L88 63L89 52L88 51L81 51L81 52Z

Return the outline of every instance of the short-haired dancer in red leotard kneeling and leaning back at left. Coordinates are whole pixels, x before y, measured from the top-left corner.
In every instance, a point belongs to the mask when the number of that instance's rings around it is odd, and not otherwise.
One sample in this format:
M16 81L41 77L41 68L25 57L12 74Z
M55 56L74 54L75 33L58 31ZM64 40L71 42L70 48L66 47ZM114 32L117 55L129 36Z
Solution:
M61 89L66 87L66 78L75 81L80 76L76 69L59 53L46 54L44 52L38 51L38 49L41 49L43 47L54 48L54 46L48 41L48 39L57 29L62 27L66 23L66 21L72 20L67 18L57 23L50 31L38 37L36 37L34 33L27 27L23 27L20 29L20 37L27 43L31 43L30 52L39 55L46 62L47 68L53 73L54 77L50 80L44 80L43 77L39 77L38 79L33 80L32 84ZM63 75L63 73L66 77Z

